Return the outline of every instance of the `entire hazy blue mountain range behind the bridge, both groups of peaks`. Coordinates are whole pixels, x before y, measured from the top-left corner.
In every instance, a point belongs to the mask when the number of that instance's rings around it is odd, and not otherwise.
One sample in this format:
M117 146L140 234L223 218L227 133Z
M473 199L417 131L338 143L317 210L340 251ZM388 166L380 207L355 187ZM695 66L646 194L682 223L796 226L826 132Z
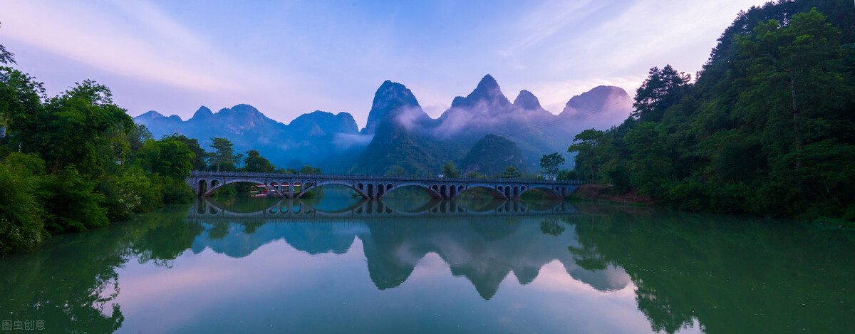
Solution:
M576 133L591 127L604 130L616 126L631 110L632 98L626 91L598 86L570 98L561 114L552 114L530 91L520 91L511 103L498 81L486 74L468 95L455 97L451 107L437 119L425 113L416 95L405 85L386 80L374 93L361 131L348 113L315 111L286 125L248 104L222 108L216 113L203 106L189 120L150 111L134 121L147 126L155 138L180 133L198 138L203 147L210 144L209 138L229 138L237 152L258 149L280 167L293 167L286 163L298 160L346 173L435 175L448 161L470 172L494 172L498 166L486 167L487 161L467 157L487 135L492 136L488 138L491 144L481 143L481 150L499 146L504 149L482 152L489 155L486 159L508 155L512 159L502 163L536 171L541 155L567 155ZM507 140L513 149L496 144L500 142L496 138ZM569 155L565 158L572 161Z

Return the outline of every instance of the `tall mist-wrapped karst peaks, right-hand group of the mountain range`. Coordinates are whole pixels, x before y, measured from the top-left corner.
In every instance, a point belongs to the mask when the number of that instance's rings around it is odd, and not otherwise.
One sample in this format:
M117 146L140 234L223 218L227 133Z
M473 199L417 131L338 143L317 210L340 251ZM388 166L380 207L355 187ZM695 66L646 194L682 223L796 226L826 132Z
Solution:
M430 175L447 161L466 160L464 155L476 142L491 134L509 139L522 151L522 162L515 161L518 167L537 170L542 155L566 154L576 133L595 126L606 129L626 119L632 108L626 91L601 87L571 98L571 108L557 115L541 107L530 91L520 91L510 103L496 79L487 74L474 91L455 97L451 107L433 120L409 89L386 81L374 96L369 126L363 129L363 133L374 133L374 138L352 170L390 173L403 168L406 173ZM378 126L384 122L386 126ZM480 169L472 167L471 158L467 163L460 166Z

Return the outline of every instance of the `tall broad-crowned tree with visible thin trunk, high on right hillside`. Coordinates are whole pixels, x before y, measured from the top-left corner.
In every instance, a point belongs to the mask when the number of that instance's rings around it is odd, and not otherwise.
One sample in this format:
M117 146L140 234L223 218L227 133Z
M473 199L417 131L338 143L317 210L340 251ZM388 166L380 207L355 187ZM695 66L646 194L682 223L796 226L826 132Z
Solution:
M805 134L818 130L804 129L801 115L827 113L852 97L852 88L840 74L845 72L840 32L817 9L793 15L786 25L775 20L760 23L753 33L737 37L737 43L737 62L753 84L742 99L745 108L740 109L755 123L766 120L764 141L776 154L791 147L802 149ZM781 126L787 119L791 131Z

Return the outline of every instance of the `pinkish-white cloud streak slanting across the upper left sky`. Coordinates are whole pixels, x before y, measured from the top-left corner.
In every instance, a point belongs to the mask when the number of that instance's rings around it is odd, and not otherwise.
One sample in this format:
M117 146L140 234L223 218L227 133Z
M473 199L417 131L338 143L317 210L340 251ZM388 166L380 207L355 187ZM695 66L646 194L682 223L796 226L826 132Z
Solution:
M4 3L0 36L108 73L197 91L240 91L232 62L150 3ZM224 71L225 70L225 71Z

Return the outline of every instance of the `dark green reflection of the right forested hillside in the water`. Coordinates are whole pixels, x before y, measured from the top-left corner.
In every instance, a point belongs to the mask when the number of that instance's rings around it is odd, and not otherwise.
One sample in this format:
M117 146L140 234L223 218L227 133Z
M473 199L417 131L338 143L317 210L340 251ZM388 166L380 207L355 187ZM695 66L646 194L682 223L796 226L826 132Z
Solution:
M851 331L852 233L668 211L575 223L577 263L623 267L654 331Z

